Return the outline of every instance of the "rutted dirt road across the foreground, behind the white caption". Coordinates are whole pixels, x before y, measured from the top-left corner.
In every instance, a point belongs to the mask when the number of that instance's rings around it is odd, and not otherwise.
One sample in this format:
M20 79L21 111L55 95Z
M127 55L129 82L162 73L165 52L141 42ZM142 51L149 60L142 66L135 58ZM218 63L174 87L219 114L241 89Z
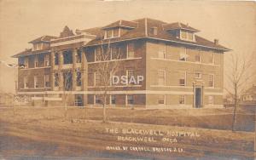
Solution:
M2 122L3 124L3 122ZM73 157L83 157L90 155L90 157L117 157L119 155L136 158L136 157L159 157L164 158L166 156L172 157L202 157L207 153L208 157L240 157L240 158L249 158L253 157L253 151L250 148L247 148L246 145L253 146L253 135L247 133L236 133L232 137L229 137L229 132L224 131L211 131L208 129L202 131L199 129L199 133L202 134L200 140L190 140L183 139L180 143L177 144L163 144L163 143L141 143L140 145L145 146L163 146L163 147L182 147L184 149L182 155L181 153L168 153L168 154L158 154L144 152L134 152L134 151L106 151L106 146L136 146L136 143L125 143L122 141L117 141L116 136L113 134L104 133L106 127L111 128L123 128L123 127L132 127L137 129L174 129L173 127L164 127L164 126L150 126L150 125L141 125L141 124L129 124L129 123L97 123L97 122L86 122L86 123L71 123L67 121L61 121L60 119L44 120L44 121L34 121L30 123L4 123L1 125L1 139L19 139L20 143L26 144L19 148L17 144L15 146L10 146L6 149L2 145L1 154L2 155L15 155L15 154L26 154L26 155L38 155L38 153L48 155L48 156L70 156ZM177 128L185 129L185 128ZM188 130L188 129L185 129ZM191 129L190 129L191 130ZM195 130L195 129L193 129ZM211 136L215 136L213 141L211 138L208 138L211 133ZM218 135L220 134L220 135ZM237 140L236 137L241 137L244 135L245 139ZM19 143L15 142L15 143ZM206 141L207 140L207 141ZM223 141L225 140L225 141ZM191 145L193 142L201 144ZM192 143L191 143L192 142ZM232 142L230 144L230 142ZM6 143L9 143L7 141ZM27 149L29 144L36 143L38 147L32 149ZM208 143L208 144L207 144ZM236 144L237 143L237 144ZM48 145L47 145L48 144ZM51 145L49 145L51 144ZM237 146L236 146L237 145ZM52 147L54 146L54 147ZM25 148L25 149L24 149ZM42 152L42 148L45 152ZM45 149L46 148L46 149ZM52 151L52 148L54 150ZM96 152L95 152L96 151ZM95 153L95 154L92 154Z

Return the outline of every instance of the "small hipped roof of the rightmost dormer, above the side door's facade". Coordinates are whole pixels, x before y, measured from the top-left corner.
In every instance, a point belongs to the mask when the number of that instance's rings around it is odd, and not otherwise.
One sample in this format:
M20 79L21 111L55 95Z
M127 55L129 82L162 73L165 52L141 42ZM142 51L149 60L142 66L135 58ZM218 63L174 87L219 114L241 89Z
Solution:
M193 32L199 31L199 30L189 26L189 24L184 25L183 23L180 23L180 22L166 24L163 27L166 31L171 31L171 30L187 30L187 31L193 31Z

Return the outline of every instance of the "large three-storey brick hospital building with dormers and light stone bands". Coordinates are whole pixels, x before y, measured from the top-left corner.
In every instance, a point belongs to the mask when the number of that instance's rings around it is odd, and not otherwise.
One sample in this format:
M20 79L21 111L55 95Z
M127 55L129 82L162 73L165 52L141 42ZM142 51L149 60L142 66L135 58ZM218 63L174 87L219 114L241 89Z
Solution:
M32 49L13 56L23 66L17 94L35 106L61 106L64 101L68 106L100 105L103 86L96 67L104 61L96 54L108 44L108 62L119 61L119 76L143 76L140 83L109 84L109 106L222 106L224 52L230 49L197 32L187 24L148 18L76 31L65 26L59 37L38 37L29 42Z

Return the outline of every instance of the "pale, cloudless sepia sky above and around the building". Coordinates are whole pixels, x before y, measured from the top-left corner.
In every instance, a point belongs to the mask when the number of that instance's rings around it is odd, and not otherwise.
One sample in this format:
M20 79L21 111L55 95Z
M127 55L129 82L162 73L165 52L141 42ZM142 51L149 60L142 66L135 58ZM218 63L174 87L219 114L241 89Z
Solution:
M64 26L75 31L145 17L189 23L201 31L199 36L211 41L217 38L220 44L232 49L224 54L224 71L230 64L230 54L256 54L253 2L0 0L0 60L17 63L11 56L31 48L29 41L44 35L59 36ZM256 56L253 60L256 62ZM14 69L0 65L0 92L14 89Z

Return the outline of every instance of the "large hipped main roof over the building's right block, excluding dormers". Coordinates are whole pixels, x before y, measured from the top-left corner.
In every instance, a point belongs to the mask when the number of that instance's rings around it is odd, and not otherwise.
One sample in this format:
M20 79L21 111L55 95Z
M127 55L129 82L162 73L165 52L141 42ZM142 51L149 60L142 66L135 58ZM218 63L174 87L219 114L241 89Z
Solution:
M85 46L98 45L98 44L102 44L102 42L108 43L109 41L111 41L111 43L114 43L114 42L138 39L138 38L151 38L151 39L169 41L172 43L183 43L183 44L194 45L194 46L210 48L210 49L219 49L219 50L223 50L223 51L230 50L218 43L214 43L214 42L209 41L203 37L195 36L195 41L192 42L192 41L182 40L177 37L173 37L171 34L167 34L166 26L168 26L167 28L170 29L170 28L174 28L174 26L177 26L177 24L180 24L181 28L186 27L186 29L188 29L190 31L192 31L192 30L198 31L191 26L181 25L182 23L174 23L174 25L173 25L173 24L168 24L166 22L163 22L161 20L153 20L153 19L148 19L148 18L133 20L133 22L137 22L136 28L127 31L124 35L121 35L121 37L111 38L110 40L109 39L104 40L103 39L104 37L98 37L96 39L91 40ZM116 22L114 22L114 23L116 23ZM113 24L110 24L110 25L113 26ZM153 33L150 32L150 29L155 28L155 27L158 29L157 35L154 35ZM104 27L102 29L104 29Z

